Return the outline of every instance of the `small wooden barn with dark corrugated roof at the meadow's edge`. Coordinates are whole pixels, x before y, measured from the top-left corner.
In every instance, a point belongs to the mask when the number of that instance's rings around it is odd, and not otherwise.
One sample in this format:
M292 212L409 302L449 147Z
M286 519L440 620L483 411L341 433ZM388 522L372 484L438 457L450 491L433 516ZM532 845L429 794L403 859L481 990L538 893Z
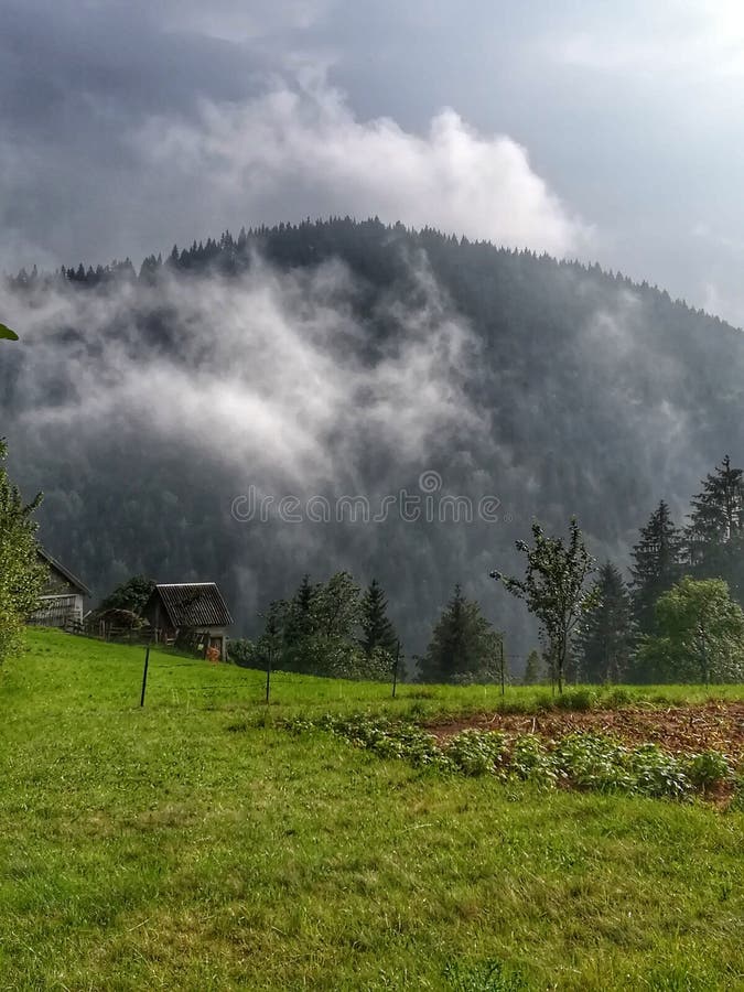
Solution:
M160 644L188 644L206 656L216 647L227 659L227 628L233 617L214 582L159 583L142 616Z

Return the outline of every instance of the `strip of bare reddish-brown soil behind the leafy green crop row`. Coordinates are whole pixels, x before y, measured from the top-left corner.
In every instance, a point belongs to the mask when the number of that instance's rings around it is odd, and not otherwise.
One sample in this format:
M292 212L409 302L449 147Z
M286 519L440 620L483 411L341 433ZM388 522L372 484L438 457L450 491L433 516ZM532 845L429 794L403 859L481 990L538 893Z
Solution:
M672 754L722 751L734 761L744 759L744 702L714 702L700 705L548 713L484 713L448 723L431 723L428 730L440 740L468 727L507 734L539 734L557 740L578 731L612 734L627 744L653 742Z

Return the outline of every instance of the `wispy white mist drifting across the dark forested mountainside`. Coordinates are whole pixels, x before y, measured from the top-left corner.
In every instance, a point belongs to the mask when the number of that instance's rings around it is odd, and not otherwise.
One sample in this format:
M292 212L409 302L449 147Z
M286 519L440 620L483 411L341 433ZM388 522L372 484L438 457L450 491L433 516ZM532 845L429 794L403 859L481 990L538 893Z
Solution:
M64 451L133 431L302 493L354 479L370 440L389 465L420 464L483 424L465 393L477 368L470 327L424 259L409 279L414 299L373 314L388 335L377 344L341 262L280 273L256 259L241 279L164 276L157 288L62 290L28 309L0 300L24 332L17 450L32 460L37 443ZM164 346L143 332L153 313L174 332Z

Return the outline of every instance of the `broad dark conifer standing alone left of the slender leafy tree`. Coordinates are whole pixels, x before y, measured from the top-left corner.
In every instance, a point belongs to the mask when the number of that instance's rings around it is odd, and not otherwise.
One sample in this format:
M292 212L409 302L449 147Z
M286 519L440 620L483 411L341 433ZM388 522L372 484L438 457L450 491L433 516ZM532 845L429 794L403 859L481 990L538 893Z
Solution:
M489 681L498 677L502 635L466 600L460 585L432 632L427 654L418 659L423 682Z

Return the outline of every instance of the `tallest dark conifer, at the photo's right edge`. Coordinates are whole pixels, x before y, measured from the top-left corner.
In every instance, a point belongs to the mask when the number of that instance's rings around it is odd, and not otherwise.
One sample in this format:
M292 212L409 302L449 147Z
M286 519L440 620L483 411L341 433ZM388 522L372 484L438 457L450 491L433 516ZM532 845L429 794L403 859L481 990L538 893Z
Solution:
M723 579L741 603L744 601L744 471L732 468L726 455L702 485L702 493L692 498L686 532L692 572L699 579Z

